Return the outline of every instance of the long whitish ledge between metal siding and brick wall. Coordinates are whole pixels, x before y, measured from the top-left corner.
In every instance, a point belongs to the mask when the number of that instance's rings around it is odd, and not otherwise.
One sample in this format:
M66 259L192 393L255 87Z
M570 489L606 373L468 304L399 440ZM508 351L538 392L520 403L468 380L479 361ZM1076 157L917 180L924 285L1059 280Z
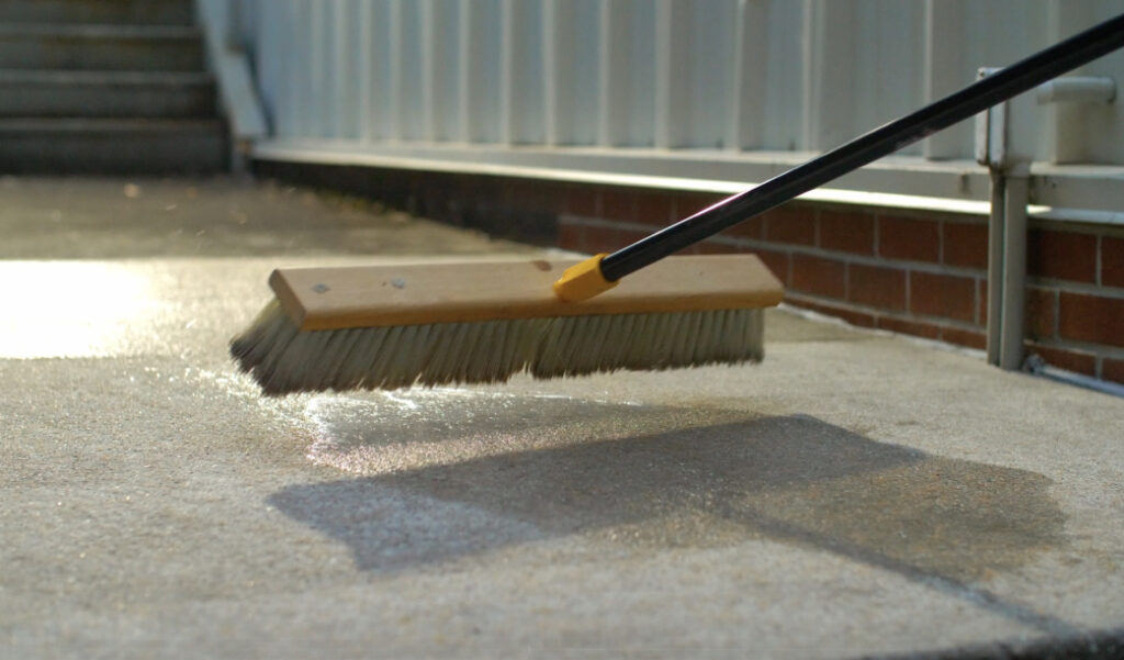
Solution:
M538 147L285 139L255 157L734 195L813 157L799 152ZM1041 171L1041 174L1039 172ZM1124 168L1036 165L1031 217L1124 225ZM986 215L987 170L970 161L889 156L800 197L808 201Z

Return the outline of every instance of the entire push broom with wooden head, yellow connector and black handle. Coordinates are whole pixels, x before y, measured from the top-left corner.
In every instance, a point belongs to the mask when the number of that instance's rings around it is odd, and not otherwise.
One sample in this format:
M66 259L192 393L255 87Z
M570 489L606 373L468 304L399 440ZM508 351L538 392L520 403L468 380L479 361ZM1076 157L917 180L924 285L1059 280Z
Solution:
M761 360L762 308L780 302L780 282L753 255L668 255L1121 46L1124 15L577 264L277 270L277 299L230 353L270 395Z

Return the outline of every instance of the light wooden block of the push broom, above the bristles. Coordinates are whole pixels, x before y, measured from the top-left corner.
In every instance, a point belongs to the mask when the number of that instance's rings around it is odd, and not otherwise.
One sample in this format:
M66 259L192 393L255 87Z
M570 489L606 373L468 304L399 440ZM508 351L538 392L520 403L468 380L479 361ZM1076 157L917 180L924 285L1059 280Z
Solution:
M581 302L551 286L577 261L279 269L270 286L302 331L551 316L771 307L783 287L752 254L669 256Z

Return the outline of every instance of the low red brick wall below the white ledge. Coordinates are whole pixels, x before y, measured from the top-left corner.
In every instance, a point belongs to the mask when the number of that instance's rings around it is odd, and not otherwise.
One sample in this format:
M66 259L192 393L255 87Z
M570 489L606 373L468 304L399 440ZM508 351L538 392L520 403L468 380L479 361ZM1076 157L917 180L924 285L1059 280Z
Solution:
M722 199L370 168L259 162L256 169L588 253L622 247ZM985 347L984 216L796 201L689 252L752 252L785 283L791 305L861 327ZM1032 224L1027 270L1027 351L1054 367L1124 382L1124 227Z

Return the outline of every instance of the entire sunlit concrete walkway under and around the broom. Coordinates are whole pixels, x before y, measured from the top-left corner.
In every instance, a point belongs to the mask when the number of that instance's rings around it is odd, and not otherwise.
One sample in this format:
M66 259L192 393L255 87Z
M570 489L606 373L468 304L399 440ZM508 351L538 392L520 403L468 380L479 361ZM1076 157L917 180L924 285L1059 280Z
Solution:
M2 658L1124 654L1120 398L779 310L756 367L264 399L275 265L533 251L228 180L0 232Z

